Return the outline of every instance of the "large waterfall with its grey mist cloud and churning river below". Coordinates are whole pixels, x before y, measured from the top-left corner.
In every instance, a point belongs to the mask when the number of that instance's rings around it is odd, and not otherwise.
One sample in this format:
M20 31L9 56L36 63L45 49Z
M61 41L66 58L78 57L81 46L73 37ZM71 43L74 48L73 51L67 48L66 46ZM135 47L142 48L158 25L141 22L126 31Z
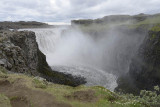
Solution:
M139 40L116 32L94 39L67 27L29 30L36 33L39 48L53 70L85 77L86 85L99 85L111 91L117 87L117 76L128 71Z

